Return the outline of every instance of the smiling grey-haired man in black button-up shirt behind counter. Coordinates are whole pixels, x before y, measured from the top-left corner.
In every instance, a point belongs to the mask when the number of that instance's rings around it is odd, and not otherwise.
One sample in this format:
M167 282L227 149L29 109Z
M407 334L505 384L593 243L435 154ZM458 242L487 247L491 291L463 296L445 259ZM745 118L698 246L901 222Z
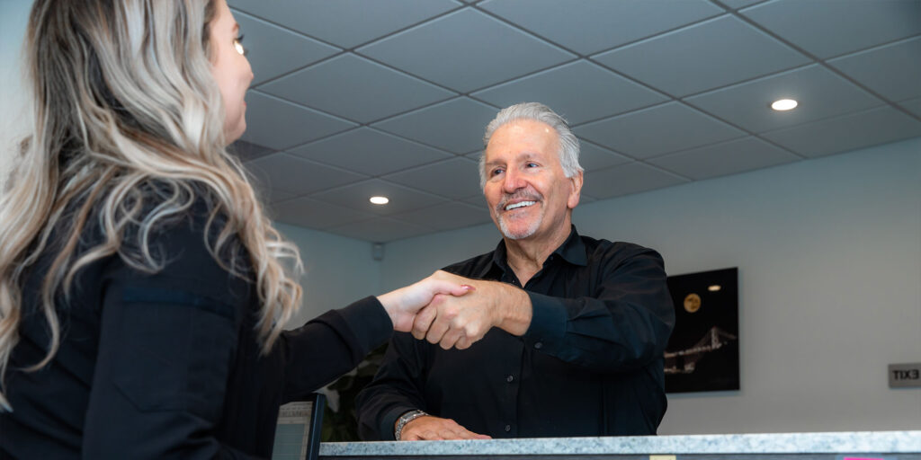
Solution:
M441 272L474 292L426 307L415 339L393 336L357 397L361 436L655 434L674 325L661 257L577 234L578 141L553 110L503 109L484 144L481 183L503 239Z

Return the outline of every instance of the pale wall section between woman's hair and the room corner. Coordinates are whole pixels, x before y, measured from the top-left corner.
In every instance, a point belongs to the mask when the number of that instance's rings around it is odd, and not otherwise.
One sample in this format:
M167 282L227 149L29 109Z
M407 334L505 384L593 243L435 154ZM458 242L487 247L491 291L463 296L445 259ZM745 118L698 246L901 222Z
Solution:
M300 248L305 275L304 301L288 327L297 328L331 308L342 308L380 292L380 262L371 258L371 244L294 225L275 224Z

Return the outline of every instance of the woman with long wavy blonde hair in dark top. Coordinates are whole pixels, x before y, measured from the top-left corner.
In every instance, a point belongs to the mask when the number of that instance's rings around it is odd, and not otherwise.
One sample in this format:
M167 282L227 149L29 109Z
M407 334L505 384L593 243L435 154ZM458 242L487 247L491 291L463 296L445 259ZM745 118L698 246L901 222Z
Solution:
M0 202L0 458L271 454L278 406L408 331L427 278L293 331L296 247L225 146L225 0L36 0L34 128Z

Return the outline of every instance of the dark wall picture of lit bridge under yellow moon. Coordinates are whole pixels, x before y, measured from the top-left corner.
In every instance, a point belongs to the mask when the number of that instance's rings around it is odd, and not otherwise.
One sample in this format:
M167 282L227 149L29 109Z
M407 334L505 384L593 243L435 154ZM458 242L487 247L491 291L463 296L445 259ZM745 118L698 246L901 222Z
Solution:
M668 278L675 328L665 350L665 391L738 390L739 269Z

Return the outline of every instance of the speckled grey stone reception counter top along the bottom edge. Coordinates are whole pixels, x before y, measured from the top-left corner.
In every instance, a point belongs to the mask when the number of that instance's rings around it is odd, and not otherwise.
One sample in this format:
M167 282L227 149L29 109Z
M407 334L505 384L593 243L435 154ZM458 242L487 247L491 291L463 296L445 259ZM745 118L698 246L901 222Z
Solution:
M921 423L921 420L919 420ZM703 434L489 441L322 443L320 458L921 460L921 431Z

